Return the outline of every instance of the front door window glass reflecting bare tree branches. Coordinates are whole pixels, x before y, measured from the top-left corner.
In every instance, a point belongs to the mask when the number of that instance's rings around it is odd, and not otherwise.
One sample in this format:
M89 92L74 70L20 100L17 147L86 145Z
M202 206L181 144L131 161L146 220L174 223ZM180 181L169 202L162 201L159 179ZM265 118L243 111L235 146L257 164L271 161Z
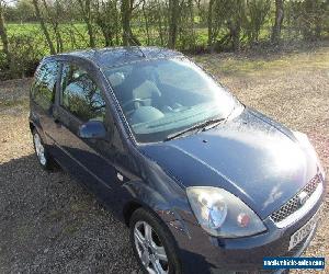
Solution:
M103 121L105 101L92 78L76 66L64 66L61 105L83 122Z

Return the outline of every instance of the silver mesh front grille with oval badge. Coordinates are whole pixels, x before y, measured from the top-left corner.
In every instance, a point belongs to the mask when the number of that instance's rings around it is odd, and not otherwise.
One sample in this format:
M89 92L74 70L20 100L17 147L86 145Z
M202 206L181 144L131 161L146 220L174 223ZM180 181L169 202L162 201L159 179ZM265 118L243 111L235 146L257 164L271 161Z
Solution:
M300 192L306 192L309 198L320 182L321 182L320 178L316 175L308 182L308 184ZM294 197L292 197L288 202L286 202L280 209L271 214L271 218L274 222L284 220L286 217L288 217L290 215L292 215L303 206L303 204L299 203L299 198L298 198L298 194L300 192L298 192Z

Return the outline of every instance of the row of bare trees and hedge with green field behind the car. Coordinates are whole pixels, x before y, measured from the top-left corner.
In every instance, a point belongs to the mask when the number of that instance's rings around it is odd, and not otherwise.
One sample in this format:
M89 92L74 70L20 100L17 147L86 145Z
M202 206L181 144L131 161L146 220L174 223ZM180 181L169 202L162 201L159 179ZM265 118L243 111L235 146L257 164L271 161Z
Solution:
M0 0L0 79L80 48L231 52L328 36L329 0Z

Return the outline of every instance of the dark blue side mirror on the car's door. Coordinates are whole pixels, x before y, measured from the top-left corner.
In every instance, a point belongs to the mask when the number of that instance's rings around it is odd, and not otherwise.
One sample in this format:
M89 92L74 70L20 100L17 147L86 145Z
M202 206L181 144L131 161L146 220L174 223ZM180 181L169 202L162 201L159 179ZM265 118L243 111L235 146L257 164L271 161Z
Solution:
M89 121L79 126L78 136L82 139L105 139L106 129L100 121Z

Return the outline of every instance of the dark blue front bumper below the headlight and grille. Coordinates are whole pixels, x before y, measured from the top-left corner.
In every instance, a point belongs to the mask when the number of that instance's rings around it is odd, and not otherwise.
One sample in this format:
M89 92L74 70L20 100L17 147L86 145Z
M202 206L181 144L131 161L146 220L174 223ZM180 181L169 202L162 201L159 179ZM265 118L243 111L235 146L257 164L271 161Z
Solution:
M198 225L184 218L182 227L169 226L177 239L184 273L283 273L284 270L264 271L264 256L299 256L309 246L317 227L292 250L291 236L303 227L321 206L325 191L315 206L297 222L277 228L264 220L268 231L253 237L220 239L207 235ZM188 231L188 232L186 232Z

